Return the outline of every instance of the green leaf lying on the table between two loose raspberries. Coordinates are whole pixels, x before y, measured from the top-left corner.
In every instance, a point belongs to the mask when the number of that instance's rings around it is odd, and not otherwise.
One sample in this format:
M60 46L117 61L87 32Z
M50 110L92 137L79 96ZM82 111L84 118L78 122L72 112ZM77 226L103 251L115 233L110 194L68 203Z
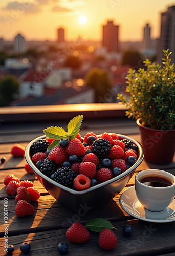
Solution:
M96 218L91 221L88 221L85 224L86 228L89 228L92 231L95 232L101 232L103 229L108 228L108 229L117 229L113 227L110 221L102 218Z

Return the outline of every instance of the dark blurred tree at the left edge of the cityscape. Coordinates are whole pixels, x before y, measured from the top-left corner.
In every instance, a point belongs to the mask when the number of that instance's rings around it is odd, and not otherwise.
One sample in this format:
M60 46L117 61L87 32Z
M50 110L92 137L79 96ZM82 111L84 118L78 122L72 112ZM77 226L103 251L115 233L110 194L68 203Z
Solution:
M0 81L0 106L9 106L19 93L19 81L15 76L8 75Z

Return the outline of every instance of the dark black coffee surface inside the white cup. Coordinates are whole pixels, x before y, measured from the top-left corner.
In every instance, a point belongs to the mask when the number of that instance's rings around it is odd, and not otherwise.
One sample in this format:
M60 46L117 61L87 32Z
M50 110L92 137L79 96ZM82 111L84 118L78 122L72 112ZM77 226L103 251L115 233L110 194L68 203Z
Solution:
M174 184L174 182L167 177L156 174L142 176L139 181L151 187L168 187Z

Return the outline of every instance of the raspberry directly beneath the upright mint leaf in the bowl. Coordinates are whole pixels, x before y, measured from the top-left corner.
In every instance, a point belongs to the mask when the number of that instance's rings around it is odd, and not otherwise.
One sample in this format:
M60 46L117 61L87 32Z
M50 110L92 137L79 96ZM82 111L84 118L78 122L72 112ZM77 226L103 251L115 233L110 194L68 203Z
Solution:
M77 157L85 154L85 147L79 141L79 139L75 138L73 140L70 140L68 146L65 148L65 151L69 154L75 154Z

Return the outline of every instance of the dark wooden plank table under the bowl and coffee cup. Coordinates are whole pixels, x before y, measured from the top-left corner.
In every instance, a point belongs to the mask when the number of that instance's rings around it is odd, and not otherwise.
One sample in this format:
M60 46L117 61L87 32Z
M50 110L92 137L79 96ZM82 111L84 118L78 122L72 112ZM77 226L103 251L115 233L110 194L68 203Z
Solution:
M129 136L140 141L138 134L131 134ZM10 143L10 139L12 143ZM174 162L168 165L153 165L143 161L119 195L100 208L88 212L84 216L78 216L50 196L35 175L25 171L24 165L26 161L23 157L12 157L10 149L14 143L13 136L9 136L8 142L7 144L2 143L0 145L0 158L3 156L7 158L4 164L0 165L0 255L6 254L3 247L5 242L4 198L8 198L8 244L15 246L13 255L23 255L19 247L24 241L31 243L31 252L28 255L35 256L59 255L57 245L60 242L68 244L69 253L67 255L175 255L175 222L152 223L142 221L127 214L119 204L121 193L129 186L134 185L134 176L137 172L147 168L161 168L175 175ZM20 144L26 146L28 142L20 142ZM4 177L7 174L14 174L20 180L32 181L34 187L40 191L41 197L39 200L32 202L35 209L32 216L20 218L15 215L16 200L14 196L7 195L3 183ZM91 232L90 239L83 244L74 244L65 237L66 230L73 222L78 221L85 224L97 217L106 218L117 228L117 230L114 230L118 238L115 249L111 251L101 249L98 245L98 233L96 232ZM131 237L124 237L122 233L123 226L127 224L133 228Z

